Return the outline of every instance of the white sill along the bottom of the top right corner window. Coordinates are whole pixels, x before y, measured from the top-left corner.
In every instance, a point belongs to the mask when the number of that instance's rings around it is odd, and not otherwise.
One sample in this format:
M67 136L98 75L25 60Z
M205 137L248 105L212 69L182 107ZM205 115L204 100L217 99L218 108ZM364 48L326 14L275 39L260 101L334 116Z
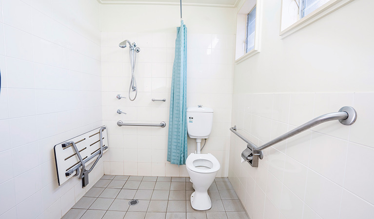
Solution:
M318 9L316 9L314 12L310 13L308 16L299 19L294 24L289 26L288 28L281 30L279 33L279 36L283 39L285 37L288 37L292 35L293 33L297 32L298 30L301 30L302 28L308 26L309 24L315 22L316 20L323 18L324 16L334 12L338 8L348 4L353 0L330 0L326 4L322 5Z

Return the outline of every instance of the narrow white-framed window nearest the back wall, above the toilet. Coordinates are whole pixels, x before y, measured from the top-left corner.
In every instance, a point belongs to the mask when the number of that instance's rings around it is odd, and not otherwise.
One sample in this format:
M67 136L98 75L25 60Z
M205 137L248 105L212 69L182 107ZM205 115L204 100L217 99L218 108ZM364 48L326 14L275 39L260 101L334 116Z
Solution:
M241 0L236 14L236 63L259 52L262 0Z

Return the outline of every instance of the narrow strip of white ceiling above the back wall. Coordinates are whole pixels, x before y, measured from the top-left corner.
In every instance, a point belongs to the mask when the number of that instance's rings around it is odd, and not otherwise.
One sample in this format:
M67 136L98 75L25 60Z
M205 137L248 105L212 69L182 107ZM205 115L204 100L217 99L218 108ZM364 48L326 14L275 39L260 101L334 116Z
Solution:
M98 0L103 4L179 4L179 0ZM235 7L238 0L182 0L184 5Z

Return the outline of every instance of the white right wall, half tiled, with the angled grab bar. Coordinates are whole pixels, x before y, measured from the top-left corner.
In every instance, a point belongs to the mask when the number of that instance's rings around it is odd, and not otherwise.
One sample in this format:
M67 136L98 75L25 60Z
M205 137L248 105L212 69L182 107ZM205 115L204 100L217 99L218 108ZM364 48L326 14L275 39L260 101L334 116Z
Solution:
M261 52L235 65L232 125L256 145L353 106L352 126L319 125L240 163L231 134L229 179L251 219L372 218L374 102L369 0L354 0L280 39L280 1L264 1ZM347 16L350 15L350 16Z

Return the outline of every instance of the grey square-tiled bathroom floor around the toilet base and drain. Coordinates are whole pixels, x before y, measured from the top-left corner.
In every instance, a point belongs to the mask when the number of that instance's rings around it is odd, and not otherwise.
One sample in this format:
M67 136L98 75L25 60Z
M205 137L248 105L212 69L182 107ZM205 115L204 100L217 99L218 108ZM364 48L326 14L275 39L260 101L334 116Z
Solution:
M192 209L193 191L185 177L104 175L63 219L248 219L227 178L209 188L208 211ZM132 199L139 203L129 206Z

